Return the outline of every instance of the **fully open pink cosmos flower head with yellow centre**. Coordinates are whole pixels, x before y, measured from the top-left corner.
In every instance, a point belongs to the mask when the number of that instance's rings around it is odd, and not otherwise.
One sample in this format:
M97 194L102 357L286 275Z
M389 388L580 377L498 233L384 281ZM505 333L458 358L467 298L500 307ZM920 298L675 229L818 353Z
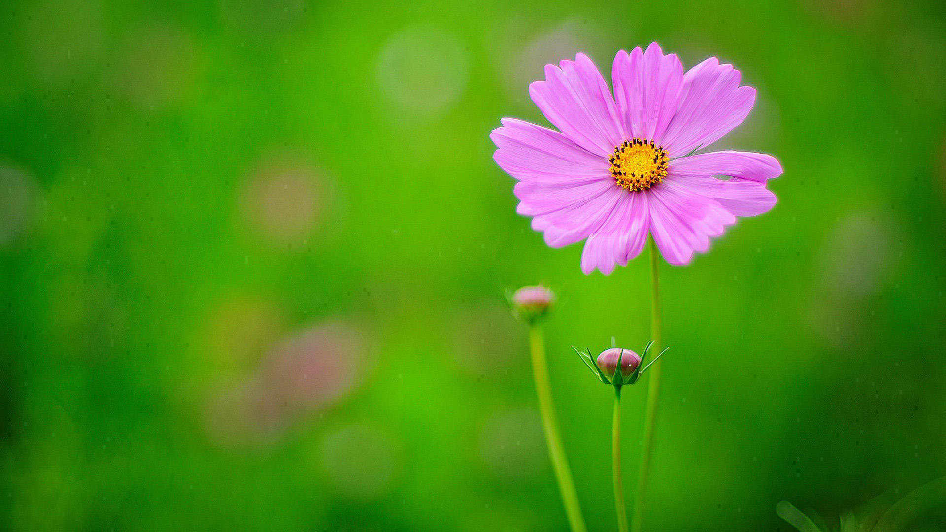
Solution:
M637 257L648 234L672 264L704 253L737 216L776 203L765 184L781 175L771 155L693 155L738 126L756 90L711 57L687 73L657 43L618 52L607 83L585 54L545 67L529 86L559 131L503 118L490 135L499 167L518 180L517 212L552 247L587 239L582 271L604 275ZM718 179L715 176L727 176Z

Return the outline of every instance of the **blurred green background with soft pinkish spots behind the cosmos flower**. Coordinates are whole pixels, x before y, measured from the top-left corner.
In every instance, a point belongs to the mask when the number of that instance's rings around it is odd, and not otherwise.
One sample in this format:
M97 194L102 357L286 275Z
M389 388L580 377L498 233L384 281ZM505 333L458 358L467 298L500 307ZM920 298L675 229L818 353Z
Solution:
M492 161L546 62L657 41L759 89L714 145L776 208L664 264L651 530L790 530L946 473L937 0L8 0L0 5L0 528L564 531L525 330L589 528L645 259L585 276ZM627 485L643 386L624 394ZM629 493L629 496L632 494Z

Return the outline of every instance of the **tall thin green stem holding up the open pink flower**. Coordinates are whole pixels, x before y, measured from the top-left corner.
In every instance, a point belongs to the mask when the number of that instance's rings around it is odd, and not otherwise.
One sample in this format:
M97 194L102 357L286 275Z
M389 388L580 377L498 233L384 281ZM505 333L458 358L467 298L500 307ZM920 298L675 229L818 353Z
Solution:
M659 253L654 237L647 239L647 249L651 257L651 352L660 352L660 281L658 278ZM648 370L650 375L647 385L647 411L644 414L644 438L640 452L640 470L638 491L634 499L634 515L631 518L631 530L640 532L644 518L644 504L647 500L647 480L650 476L651 454L654 450L654 426L657 423L657 399L660 396L660 364L657 360Z

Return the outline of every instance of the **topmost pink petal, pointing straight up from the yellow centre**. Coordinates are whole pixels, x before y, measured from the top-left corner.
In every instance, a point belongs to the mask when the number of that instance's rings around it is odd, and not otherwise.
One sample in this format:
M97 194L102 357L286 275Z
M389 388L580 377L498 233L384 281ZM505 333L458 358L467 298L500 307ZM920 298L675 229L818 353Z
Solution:
M676 54L663 55L657 43L647 51L624 50L614 58L614 98L631 136L660 144L677 109L683 89L683 63Z

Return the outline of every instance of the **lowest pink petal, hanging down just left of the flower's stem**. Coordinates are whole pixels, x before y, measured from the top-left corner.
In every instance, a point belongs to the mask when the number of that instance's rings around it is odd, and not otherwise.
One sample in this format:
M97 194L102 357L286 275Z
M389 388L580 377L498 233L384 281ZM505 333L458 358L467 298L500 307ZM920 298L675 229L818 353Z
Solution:
M610 275L616 264L627 265L637 257L647 240L647 196L623 192L614 213L585 242L582 271L590 275L595 269Z

